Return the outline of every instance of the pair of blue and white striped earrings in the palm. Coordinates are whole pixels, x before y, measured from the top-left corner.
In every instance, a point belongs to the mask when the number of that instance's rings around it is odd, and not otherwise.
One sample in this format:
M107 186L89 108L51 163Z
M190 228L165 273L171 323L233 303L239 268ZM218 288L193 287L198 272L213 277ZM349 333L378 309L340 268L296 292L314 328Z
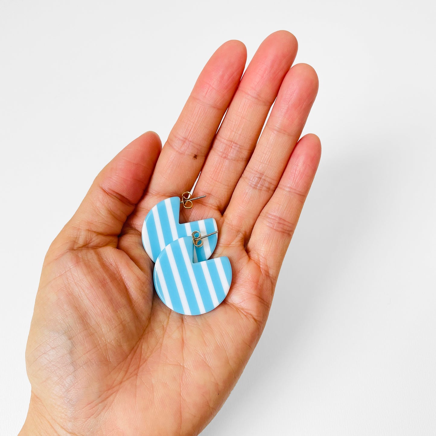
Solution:
M155 262L153 281L160 300L175 312L199 315L215 309L232 282L228 257L209 259L218 242L214 218L181 224L180 205L191 209L190 192L166 198L148 212L142 243Z

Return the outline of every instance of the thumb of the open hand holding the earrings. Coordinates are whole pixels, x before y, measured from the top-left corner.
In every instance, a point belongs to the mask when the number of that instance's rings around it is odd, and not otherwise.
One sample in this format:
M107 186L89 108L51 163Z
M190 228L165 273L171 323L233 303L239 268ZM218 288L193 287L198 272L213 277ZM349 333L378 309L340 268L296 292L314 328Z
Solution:
M157 133L146 132L102 169L66 226L75 248L117 245L118 235L143 196L161 149Z

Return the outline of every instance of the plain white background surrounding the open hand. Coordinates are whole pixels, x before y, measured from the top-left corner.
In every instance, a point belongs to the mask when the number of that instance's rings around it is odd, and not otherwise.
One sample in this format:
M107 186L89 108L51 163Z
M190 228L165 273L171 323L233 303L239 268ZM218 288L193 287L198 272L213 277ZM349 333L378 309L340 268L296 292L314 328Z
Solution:
M98 171L166 139L212 52L296 35L320 91L320 168L269 320L202 435L436 433L431 1L0 2L0 433L30 385L44 254Z

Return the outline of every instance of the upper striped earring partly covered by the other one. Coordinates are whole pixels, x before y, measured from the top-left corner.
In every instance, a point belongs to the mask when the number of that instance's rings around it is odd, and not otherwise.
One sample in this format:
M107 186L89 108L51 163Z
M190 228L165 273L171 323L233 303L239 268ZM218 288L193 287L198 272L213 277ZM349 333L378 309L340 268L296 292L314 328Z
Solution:
M184 236L191 236L194 231L203 235L212 234L211 238L204 242L204 245L195 247L194 262L201 262L211 257L218 241L218 237L214 233L218 229L215 219L207 218L185 224L179 222L180 205L182 204L186 209L191 209L192 201L204 197L206 196L201 195L200 197L191 198L190 192L184 192L182 199L179 197L166 198L151 208L142 226L142 243L153 262L156 262L159 253L170 242Z

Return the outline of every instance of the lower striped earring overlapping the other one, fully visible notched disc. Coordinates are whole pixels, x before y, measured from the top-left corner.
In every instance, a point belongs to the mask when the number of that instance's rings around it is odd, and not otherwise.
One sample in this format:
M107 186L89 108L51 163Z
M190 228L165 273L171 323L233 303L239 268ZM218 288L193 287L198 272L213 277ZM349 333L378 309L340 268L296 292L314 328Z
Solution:
M232 283L232 267L228 257L195 262L194 248L201 248L198 231L170 242L157 256L153 281L157 295L175 312L200 315L215 309L226 297ZM218 238L218 237L217 237Z

